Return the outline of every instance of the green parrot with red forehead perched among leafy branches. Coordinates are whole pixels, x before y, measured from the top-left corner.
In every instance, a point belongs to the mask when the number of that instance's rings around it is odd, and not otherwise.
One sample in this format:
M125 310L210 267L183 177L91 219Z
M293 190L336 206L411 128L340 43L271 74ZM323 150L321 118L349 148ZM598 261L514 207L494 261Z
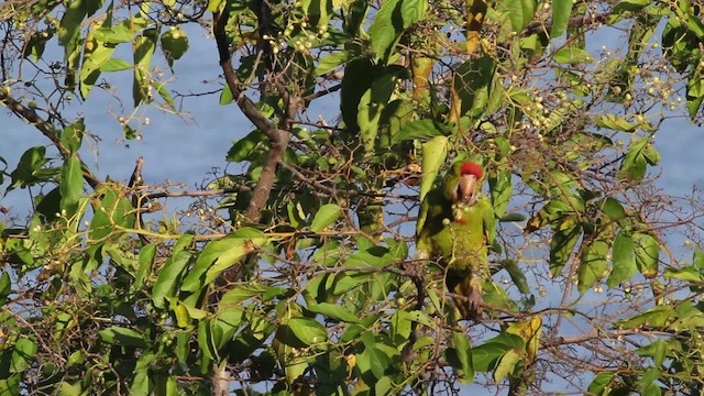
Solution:
M416 224L417 257L446 270L448 289L468 297L455 299L462 317L481 316L482 285L490 278L488 246L495 219L481 191L484 170L471 162L457 162L422 200Z

